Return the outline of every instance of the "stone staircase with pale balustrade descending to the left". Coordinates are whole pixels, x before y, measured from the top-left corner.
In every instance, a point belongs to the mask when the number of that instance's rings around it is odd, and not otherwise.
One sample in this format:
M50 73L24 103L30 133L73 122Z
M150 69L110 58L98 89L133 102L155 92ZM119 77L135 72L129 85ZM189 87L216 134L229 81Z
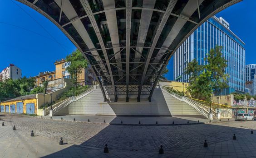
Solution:
M69 104L71 104L72 102L75 102L81 98L83 98L84 96L88 95L89 93L93 92L96 86L92 86L91 88L89 88L88 90L86 90L84 93L81 93L77 96L74 97L70 97L67 98L61 102L58 102L56 104L54 104L51 107L48 107L47 109L45 109L46 114L49 114L49 116L54 116L54 114L56 114L57 112L59 112L62 108L68 106Z

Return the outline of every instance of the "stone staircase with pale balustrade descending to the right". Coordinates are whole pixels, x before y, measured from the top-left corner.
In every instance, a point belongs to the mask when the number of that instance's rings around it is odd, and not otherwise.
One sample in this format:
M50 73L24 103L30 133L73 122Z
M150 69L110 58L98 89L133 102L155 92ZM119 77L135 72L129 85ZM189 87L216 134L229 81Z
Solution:
M210 108L202 105L199 102L196 102L190 98L184 97L184 96L180 96L177 93L172 92L171 90L169 90L168 88L166 88L165 86L161 86L162 91L168 93L169 95L171 95L172 97L178 99L179 101L182 102L186 102L188 105L190 105L191 107L193 107L195 110L197 110L197 112L199 112L200 114L202 114L202 116L204 116L207 119L213 119L216 118L217 113L214 110L210 110ZM212 112L210 112L212 111ZM211 117L212 115L212 117Z

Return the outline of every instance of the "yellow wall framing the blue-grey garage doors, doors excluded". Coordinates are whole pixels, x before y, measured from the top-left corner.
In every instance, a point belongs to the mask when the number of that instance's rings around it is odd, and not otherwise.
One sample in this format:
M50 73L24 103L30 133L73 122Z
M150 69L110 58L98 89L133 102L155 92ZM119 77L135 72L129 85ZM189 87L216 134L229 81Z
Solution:
M17 101L11 101L11 102L1 102L1 105L4 105L4 109L5 109L5 105L9 106L9 112L10 112L10 105L14 104L15 105L15 112L17 112L17 102L22 102L21 100L17 100ZM23 113L26 113L26 104L27 103L34 103L34 113L37 114L37 99L26 99L24 100L23 103Z

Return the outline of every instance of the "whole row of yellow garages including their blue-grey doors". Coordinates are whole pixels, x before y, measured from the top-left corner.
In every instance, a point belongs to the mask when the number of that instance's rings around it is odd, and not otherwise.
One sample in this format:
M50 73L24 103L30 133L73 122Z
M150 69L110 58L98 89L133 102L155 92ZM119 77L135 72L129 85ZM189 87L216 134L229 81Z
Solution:
M36 94L21 96L1 102L1 112L37 114Z

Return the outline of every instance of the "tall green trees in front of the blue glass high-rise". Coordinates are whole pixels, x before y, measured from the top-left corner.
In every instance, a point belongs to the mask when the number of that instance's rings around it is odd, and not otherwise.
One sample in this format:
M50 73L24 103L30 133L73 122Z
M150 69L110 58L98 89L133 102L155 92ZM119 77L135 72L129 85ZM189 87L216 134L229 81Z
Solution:
M226 60L222 57L222 46L211 49L204 59L207 65L199 65L194 59L187 65L186 73L190 75L187 88L192 98L211 102L213 90L227 88L228 75L225 74Z

